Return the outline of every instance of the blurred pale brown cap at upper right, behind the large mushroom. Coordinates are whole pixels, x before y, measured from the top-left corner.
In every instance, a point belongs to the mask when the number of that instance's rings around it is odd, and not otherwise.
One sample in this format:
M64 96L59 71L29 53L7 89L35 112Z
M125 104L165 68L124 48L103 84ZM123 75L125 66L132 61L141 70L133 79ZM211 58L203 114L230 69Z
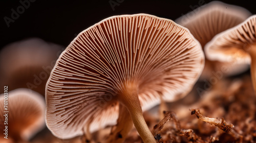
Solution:
M250 15L245 8L214 1L183 15L175 22L187 28L204 48L216 34L239 25Z

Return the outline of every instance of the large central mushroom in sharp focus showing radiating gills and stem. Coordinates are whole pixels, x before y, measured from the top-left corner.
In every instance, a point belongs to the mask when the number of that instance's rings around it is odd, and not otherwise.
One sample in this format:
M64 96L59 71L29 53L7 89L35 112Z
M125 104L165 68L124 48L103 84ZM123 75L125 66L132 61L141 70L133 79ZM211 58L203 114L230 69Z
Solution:
M144 142L156 142L142 110L161 96L182 98L203 65L199 42L172 20L106 18L82 31L57 60L46 85L47 126L64 139L83 134L84 127L93 132L118 124L113 132L121 142L133 122Z

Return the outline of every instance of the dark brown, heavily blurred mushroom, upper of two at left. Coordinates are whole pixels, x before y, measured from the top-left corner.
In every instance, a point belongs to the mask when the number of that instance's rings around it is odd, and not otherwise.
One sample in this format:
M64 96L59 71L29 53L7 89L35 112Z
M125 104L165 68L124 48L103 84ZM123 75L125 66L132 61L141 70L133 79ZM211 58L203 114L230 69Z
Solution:
M45 94L45 85L62 46L30 38L8 44L0 53L0 85Z

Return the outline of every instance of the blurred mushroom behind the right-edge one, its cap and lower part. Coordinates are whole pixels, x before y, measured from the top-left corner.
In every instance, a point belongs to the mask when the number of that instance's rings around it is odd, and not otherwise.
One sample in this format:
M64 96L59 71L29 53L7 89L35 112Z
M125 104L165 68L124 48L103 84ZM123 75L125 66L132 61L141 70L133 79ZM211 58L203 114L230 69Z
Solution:
M204 50L205 44L216 34L237 26L250 15L251 13L242 7L214 1L183 15L175 22L186 27L200 42ZM229 70L223 70L223 68ZM236 75L247 69L247 64L210 61L206 57L200 79L209 79L211 76L215 76L217 72L222 72L224 76Z

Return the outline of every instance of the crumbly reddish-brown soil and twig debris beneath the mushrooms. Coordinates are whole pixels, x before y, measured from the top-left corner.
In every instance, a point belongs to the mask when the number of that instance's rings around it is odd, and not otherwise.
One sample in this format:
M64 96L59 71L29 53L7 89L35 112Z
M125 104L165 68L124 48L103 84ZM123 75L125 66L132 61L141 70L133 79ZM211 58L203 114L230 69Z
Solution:
M216 85L217 86L217 85ZM196 92L196 91L195 91ZM193 92L194 93L194 92ZM194 94L197 94L194 93ZM193 98L192 98L193 99ZM161 121L159 110L155 112L144 112L145 121L150 129L155 129L154 137L159 138L158 142L161 143L219 143L219 142L256 142L256 96L254 95L251 85L250 77L243 77L241 79L229 80L223 79L218 83L218 87L212 87L211 90L205 92L200 97L196 97L198 101L191 102L185 100L179 103L167 104L168 109L172 109L173 112L168 115L169 112L161 112L164 115L164 119ZM190 104L184 104L185 102L191 102ZM224 117L227 123L232 123L235 127L230 127L230 131L225 133L223 130L208 124L208 122L200 121L197 118L191 118L190 108L199 108L202 116L211 117ZM162 108L161 110L163 110ZM160 110L160 111L161 111ZM196 115L196 109L190 110ZM204 112L203 112L204 111ZM167 117L166 116L167 113ZM173 114L172 114L173 113ZM174 114L175 113L175 114ZM199 112L200 113L200 112ZM173 117L172 117L173 115ZM176 117L179 117L178 118ZM199 115L198 115L199 116ZM205 117L206 118L206 117ZM167 121L168 120L168 121ZM216 121L213 118L212 121ZM160 122L161 121L161 122ZM164 123L165 121L165 123ZM160 122L160 123L159 123ZM218 123L225 123L224 120L219 118ZM159 124L158 124L159 123ZM161 124L161 125L160 125ZM226 124L225 124L226 125ZM161 128L162 127L162 128ZM108 129L108 130L106 130ZM109 137L111 126L105 129L101 129L95 133L92 133L92 139L95 142L104 143L106 138ZM48 131L48 130L47 130ZM48 131L53 141L46 140L42 136L35 138L32 143L59 143L70 142L80 143L80 138L73 138L69 140L56 140L50 131ZM153 133L153 131L152 131ZM159 135L157 135L159 134ZM157 135L157 136L156 136ZM160 138L161 137L161 138ZM40 141L39 141L40 140ZM157 140L156 140L157 141ZM1 142L1 141L0 141ZM132 131L127 136L124 143L141 143L137 130L133 127Z

